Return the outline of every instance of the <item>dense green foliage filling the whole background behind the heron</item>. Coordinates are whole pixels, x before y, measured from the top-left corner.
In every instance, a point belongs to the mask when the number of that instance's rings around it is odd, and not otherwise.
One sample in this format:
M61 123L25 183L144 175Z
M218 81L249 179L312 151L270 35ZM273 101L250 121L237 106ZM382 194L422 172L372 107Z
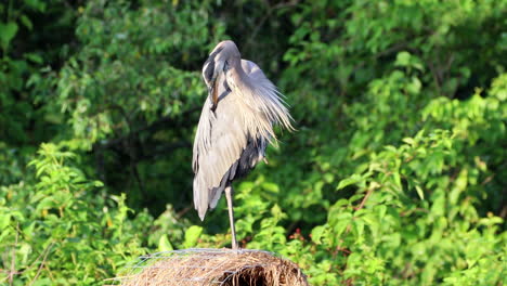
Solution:
M96 285L230 247L192 200L200 68L232 39L290 105L235 184L240 246L312 285L506 284L507 2L0 2L0 283ZM224 200L224 199L223 199Z

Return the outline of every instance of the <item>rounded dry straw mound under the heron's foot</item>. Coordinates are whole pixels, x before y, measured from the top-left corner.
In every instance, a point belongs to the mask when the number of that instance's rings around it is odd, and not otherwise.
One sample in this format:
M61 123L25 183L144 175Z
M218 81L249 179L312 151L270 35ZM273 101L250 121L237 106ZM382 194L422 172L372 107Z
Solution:
M122 286L308 286L294 262L248 249L185 249L144 256L115 281Z

